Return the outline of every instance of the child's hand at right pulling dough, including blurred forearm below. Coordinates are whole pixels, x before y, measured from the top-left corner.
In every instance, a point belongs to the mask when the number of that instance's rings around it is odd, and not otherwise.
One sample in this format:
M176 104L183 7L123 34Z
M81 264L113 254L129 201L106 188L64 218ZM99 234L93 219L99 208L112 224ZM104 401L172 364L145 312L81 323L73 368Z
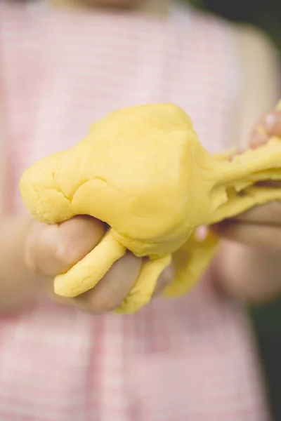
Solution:
M264 129L262 134L260 128ZM281 138L281 112L270 112L256 124L250 147L270 136ZM281 183L268 185L281 187ZM227 295L249 302L264 302L281 292L281 201L248 210L214 227L225 239L214 269L218 288Z

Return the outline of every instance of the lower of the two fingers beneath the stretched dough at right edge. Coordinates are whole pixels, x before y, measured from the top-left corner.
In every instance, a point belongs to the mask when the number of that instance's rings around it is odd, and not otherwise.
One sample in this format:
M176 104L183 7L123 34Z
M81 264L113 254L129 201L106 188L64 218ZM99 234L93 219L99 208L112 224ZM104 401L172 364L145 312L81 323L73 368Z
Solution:
M225 222L216 226L215 232L228 240L244 244L244 246L259 248L270 253L280 253L281 251L281 228Z

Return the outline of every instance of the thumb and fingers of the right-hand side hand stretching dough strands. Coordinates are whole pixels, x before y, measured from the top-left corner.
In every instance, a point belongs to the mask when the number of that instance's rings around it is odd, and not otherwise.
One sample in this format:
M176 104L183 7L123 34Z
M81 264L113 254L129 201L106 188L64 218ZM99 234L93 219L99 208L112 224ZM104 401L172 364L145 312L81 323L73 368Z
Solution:
M259 119L251 134L249 147L255 149L264 145L272 136L281 138L280 111L270 112ZM268 185L281 188L281 182L268 182ZM242 215L221 222L215 229L226 239L266 253L280 253L281 258L281 201L252 208Z

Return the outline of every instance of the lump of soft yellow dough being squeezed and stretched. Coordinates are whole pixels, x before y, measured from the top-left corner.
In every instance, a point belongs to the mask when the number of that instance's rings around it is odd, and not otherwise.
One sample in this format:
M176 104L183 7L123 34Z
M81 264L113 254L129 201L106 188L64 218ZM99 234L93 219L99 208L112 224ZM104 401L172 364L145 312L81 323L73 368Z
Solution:
M182 109L171 104L120 109L91 126L72 149L41 159L20 180L27 210L60 223L91 215L109 225L98 246L55 278L55 293L75 297L96 286L126 250L143 260L119 312L150 301L171 260L175 278L164 295L184 294L206 269L218 239L197 241L195 228L281 199L281 140L237 155L211 155Z

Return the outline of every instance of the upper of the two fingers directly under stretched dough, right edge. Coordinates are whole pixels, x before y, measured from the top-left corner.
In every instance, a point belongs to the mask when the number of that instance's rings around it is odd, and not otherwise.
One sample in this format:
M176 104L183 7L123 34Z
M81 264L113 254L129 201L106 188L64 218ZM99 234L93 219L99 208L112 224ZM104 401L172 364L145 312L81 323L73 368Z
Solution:
M262 206L256 206L247 212L233 218L235 221L254 225L281 226L281 201L272 201Z

